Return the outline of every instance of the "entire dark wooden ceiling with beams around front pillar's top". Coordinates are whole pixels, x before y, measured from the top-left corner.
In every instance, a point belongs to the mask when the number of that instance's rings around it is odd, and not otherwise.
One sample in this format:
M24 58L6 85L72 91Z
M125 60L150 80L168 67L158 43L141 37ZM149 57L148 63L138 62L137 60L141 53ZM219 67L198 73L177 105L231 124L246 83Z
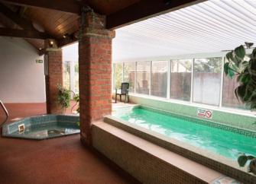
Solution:
M89 6L99 14L107 16L107 27L115 29L133 21L140 20L177 8L191 5L203 0L0 0L0 36L24 37L36 49L44 48L44 38L63 42L63 35L73 34L79 30L80 8ZM172 3L172 5L170 5ZM9 29L9 30L8 30ZM12 30L10 30L12 29ZM17 33L18 29L29 33ZM75 40L71 40L75 41Z

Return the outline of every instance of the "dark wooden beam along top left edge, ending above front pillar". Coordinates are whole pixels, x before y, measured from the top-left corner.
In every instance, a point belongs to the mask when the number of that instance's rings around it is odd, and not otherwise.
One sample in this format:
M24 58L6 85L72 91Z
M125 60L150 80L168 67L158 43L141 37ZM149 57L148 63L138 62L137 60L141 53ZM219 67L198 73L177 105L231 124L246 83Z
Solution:
M47 8L66 13L80 14L81 7L87 5L86 0L0 0L12 5Z

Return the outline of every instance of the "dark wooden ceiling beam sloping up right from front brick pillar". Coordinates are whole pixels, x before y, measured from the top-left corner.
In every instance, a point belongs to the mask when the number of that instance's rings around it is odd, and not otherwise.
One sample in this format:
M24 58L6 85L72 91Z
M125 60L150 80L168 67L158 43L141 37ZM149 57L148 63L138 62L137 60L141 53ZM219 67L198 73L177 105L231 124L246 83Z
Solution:
M206 0L141 0L121 11L109 14L107 16L106 27L107 29L113 30L134 22L143 21L149 17L175 11L204 1Z

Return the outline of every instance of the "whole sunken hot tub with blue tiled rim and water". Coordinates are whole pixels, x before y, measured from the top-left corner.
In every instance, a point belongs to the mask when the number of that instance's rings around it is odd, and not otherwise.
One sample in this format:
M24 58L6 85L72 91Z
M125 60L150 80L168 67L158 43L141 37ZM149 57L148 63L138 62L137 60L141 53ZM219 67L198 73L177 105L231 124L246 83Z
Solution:
M79 133L79 116L67 115L42 115L32 116L2 126L2 136L9 138L27 138L42 140L57 138L66 135ZM24 125L24 132L18 131L18 126ZM53 127L47 129L47 127ZM36 132L37 128L44 129L41 133ZM34 134L28 134L28 130L34 130ZM41 135L40 135L41 134Z

